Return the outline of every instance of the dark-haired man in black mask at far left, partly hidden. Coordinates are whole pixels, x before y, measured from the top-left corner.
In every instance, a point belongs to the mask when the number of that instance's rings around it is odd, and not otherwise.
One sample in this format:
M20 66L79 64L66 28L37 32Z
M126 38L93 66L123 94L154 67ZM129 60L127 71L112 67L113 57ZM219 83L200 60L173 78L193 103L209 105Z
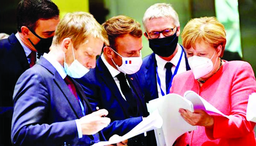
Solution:
M0 146L12 145L12 96L17 79L35 64L35 52L49 52L58 22L58 7L50 0L21 0L18 32L0 40Z

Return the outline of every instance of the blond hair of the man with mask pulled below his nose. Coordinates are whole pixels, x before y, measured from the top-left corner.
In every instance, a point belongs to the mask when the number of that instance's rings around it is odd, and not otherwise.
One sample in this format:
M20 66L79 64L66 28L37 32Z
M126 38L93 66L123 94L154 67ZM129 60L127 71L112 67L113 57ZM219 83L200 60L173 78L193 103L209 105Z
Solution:
M92 14L86 12L67 13L55 30L52 44L58 45L63 39L70 38L73 47L78 48L79 45L86 43L88 36L99 38L105 45L108 45L108 35L106 31L94 19Z

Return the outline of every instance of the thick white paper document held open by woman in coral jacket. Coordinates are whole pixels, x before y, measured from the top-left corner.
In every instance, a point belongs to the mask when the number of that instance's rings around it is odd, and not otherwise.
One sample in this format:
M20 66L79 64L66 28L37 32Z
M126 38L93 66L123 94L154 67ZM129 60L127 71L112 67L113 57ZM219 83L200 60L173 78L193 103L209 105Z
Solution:
M180 108L190 110L191 112L194 112L196 109L202 109L208 113L215 112L228 118L227 115L224 115L194 91L186 91L184 97L174 93L167 94L161 98L149 101L147 107L150 114L158 110L163 118L162 128L154 130L157 146L172 146L180 135L196 129L196 126L188 124L181 117L178 112Z

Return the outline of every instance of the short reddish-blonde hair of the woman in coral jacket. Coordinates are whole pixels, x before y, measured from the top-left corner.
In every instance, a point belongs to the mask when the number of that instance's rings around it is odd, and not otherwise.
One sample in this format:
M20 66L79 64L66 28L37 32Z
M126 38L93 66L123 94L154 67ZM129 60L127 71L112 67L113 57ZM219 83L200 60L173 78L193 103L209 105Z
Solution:
M226 32L224 25L215 17L201 17L190 20L181 34L184 48L195 48L195 44L201 41L217 49L222 46L221 55L223 56L226 45Z

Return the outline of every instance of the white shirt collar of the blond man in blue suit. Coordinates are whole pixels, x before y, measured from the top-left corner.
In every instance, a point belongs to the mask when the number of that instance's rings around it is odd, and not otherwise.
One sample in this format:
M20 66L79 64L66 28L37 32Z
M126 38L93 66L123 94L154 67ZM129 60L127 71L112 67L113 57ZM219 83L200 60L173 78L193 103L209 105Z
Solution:
M45 59L47 59L48 62L50 62L52 64L52 66L57 70L57 72L61 75L61 78L64 79L67 76L67 73L64 69L64 67L58 62L56 61L54 58L54 56L44 53L43 57Z

